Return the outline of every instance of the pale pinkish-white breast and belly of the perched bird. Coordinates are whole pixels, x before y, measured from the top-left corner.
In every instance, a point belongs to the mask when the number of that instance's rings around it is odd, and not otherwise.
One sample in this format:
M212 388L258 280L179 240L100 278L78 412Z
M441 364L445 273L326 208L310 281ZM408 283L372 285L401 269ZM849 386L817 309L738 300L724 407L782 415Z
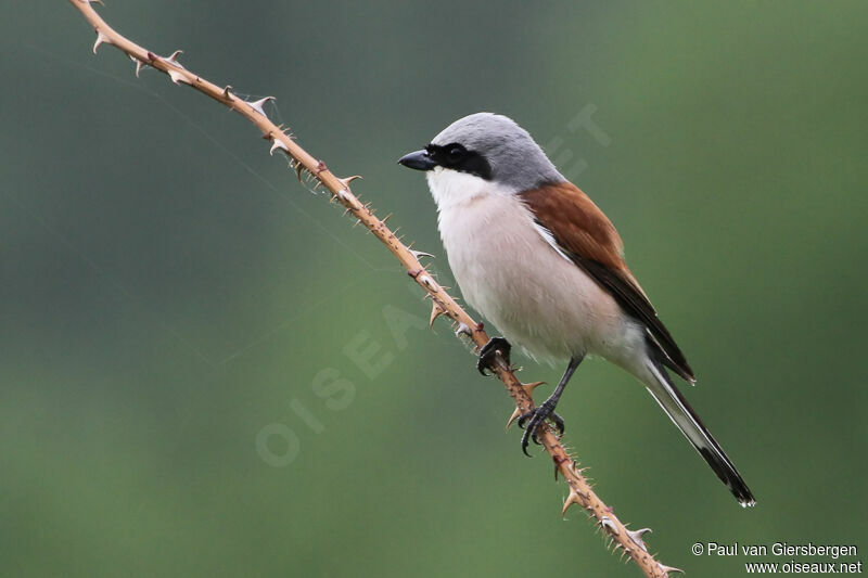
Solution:
M624 367L644 349L639 325L548 245L515 196L478 194L441 207L439 230L464 299L532 357L591 354Z

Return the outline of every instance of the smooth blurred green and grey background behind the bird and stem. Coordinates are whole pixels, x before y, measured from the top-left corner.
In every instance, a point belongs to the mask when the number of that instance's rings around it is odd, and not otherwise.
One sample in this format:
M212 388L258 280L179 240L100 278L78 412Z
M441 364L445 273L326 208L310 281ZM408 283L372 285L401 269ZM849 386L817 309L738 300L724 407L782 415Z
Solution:
M695 541L868 549L868 4L108 4L149 49L278 97L446 285L395 160L459 116L515 118L618 227L760 503L593 361L560 413L602 498L691 576L757 560ZM638 575L561 519L502 386L254 128L94 57L67 2L3 12L0 574Z

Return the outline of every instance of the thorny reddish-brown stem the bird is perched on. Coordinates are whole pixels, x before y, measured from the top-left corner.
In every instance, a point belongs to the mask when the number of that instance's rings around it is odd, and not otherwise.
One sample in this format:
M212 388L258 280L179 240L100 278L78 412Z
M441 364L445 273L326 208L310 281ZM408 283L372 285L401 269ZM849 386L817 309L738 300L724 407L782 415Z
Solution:
M346 207L346 213L352 214L359 222L363 223L368 230L388 247L388 251L400 261L409 275L431 297L433 301L432 323L437 317L445 316L456 325L457 336L468 335L477 346L485 345L488 342L488 335L483 330L482 324L476 323L419 262L419 257L425 254L412 251L401 243L395 233L386 227L384 220L380 220L374 216L370 205L361 204L352 193L349 183L356 177L345 179L335 177L326 166L326 163L308 154L280 127L268 119L263 106L272 97L267 97L256 102L246 102L232 92L232 87L218 87L184 68L178 62L178 56L181 54L180 50L170 56L158 56L145 50L111 28L90 5L93 1L99 0L69 0L84 14L97 33L97 42L93 44L94 53L100 44L112 44L126 53L136 63L137 76L142 66L151 66L167 74L176 85L188 85L244 116L263 131L264 139L271 141L272 154L276 150L283 151L290 158L291 164L294 165L299 179L303 170L309 172L330 191L332 202L339 202ZM534 408L531 394L539 383L522 384L502 359L498 359L494 371L515 401L515 412L507 422L507 426L509 426L518 415ZM561 446L560 440L550 427L544 427L539 439L554 462L556 477L560 473L570 488L570 496L563 504L562 515L566 513L566 510L572 504L579 504L611 538L610 543L613 543L615 549L621 549L622 555L629 555L646 576L666 578L672 571L680 571L677 568L663 565L648 552L648 548L642 540L643 534L649 531L647 528L628 530L615 516L612 509L597 497L588 480L582 475L582 470L577 467L576 461Z

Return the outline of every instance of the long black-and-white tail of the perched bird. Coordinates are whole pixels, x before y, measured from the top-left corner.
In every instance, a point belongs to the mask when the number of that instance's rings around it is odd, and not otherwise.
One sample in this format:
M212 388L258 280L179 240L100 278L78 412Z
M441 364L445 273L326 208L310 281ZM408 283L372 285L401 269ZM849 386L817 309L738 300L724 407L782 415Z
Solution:
M754 500L748 485L741 479L736 466L732 465L720 445L717 444L717 440L702 424L702 420L695 414L690 403L675 387L666 370L651 359L648 360L648 369L655 377L650 383L646 383L648 391L660 403L663 411L678 426L690 444L697 448L697 451L709 462L714 473L717 474L720 481L726 484L739 503L743 508L754 505L756 500Z

